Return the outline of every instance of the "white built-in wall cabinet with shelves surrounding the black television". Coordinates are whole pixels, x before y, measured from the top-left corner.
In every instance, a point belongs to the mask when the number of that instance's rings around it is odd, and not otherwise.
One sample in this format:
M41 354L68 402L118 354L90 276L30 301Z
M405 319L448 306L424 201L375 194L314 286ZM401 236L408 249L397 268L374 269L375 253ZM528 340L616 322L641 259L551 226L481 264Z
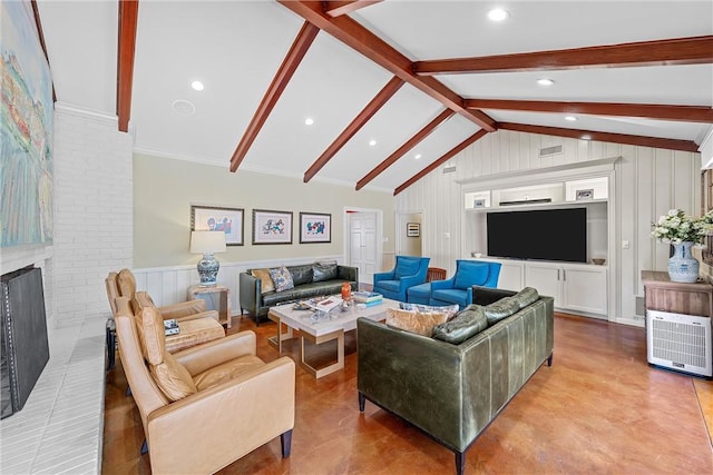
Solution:
M555 298L555 308L597 318L609 314L609 253L614 229L612 189L616 158L554 167L537 174L512 174L487 180L462 180L463 256L501 264L498 288L520 290L534 287ZM519 186L512 187L512 184ZM588 263L556 263L504 259L487 256L486 212L564 207L587 208ZM556 230L553 230L556 232ZM590 264L606 259L604 266Z

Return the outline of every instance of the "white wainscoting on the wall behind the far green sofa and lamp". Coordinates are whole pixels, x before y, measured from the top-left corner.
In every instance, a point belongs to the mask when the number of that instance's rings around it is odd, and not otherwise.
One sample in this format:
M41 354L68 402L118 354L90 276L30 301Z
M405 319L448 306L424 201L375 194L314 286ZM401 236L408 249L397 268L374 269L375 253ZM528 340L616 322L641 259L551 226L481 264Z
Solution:
M218 257L219 260L219 257ZM336 260L343 264L344 256L318 256L311 259L304 257L294 259L243 260L240 263L221 263L218 281L231 289L231 310L233 315L241 314L238 275L246 269L264 267L296 266L318 260ZM188 287L199 283L196 266L154 267L133 269L136 277L136 288L146 290L157 306L177 304L188 298Z

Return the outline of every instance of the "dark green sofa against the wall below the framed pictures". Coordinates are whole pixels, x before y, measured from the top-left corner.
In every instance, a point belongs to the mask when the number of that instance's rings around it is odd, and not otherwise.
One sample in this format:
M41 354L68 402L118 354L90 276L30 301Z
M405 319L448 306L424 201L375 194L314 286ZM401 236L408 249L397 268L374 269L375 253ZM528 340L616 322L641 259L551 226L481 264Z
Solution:
M356 267L336 265L336 271L325 279L315 278L315 275L320 275L322 278L325 275L325 271L320 271L320 269L324 270L320 267L320 263L285 267L290 270L294 288L282 291L263 293L261 280L252 275L253 269L240 273L241 315L247 311L255 318L255 324L260 325L266 319L270 307L275 305L339 294L344 283L351 284L352 290L359 289L359 268Z

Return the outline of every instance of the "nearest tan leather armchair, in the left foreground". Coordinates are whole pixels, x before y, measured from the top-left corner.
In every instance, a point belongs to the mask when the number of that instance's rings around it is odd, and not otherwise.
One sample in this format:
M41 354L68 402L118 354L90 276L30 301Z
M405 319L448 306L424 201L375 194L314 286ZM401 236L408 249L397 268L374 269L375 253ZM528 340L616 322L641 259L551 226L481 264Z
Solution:
M116 304L119 356L154 474L214 473L276 436L282 456L290 455L295 397L291 358L257 358L253 331L172 355L165 350L159 311L146 307L135 316L128 298Z

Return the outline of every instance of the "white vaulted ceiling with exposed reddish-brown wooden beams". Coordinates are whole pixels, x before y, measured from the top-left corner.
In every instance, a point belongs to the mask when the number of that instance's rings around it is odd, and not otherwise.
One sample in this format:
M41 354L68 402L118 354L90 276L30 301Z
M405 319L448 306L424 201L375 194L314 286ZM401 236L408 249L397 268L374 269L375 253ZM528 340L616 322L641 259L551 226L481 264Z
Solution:
M37 7L58 101L236 174L398 194L497 130L696 151L713 125L710 0Z

